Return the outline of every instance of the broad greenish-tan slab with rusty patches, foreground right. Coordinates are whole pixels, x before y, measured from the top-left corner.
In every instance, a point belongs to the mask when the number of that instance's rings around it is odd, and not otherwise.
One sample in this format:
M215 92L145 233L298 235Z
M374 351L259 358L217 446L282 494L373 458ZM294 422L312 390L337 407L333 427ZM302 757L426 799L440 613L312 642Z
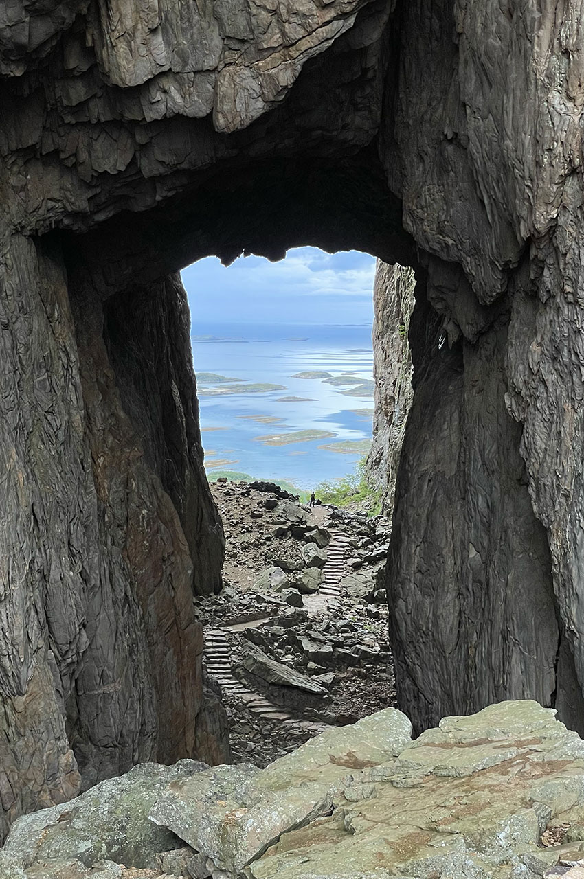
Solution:
M558 863L547 825L584 807L584 743L536 702L448 717L407 745L368 797L282 835L252 879L532 879ZM575 847L575 846L574 846ZM533 872L529 864L537 866Z

